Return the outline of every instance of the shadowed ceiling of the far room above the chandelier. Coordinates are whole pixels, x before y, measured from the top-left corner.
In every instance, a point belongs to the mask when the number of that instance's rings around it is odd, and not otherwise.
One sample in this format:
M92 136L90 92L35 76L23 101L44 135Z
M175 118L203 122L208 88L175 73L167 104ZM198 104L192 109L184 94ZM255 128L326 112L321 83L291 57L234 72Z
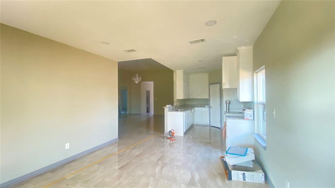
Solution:
M137 60L137 64L138 66L136 65L136 60L118 62L118 66L120 69L131 71L131 72L144 71L144 70L169 69L151 58L139 59Z

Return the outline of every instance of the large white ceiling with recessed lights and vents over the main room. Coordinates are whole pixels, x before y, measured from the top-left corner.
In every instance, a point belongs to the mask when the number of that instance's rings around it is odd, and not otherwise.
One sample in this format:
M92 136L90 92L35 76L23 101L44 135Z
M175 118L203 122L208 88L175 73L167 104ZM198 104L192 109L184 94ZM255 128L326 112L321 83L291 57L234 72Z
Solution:
M197 73L218 69L222 56L253 45L279 3L1 1L1 23L116 61L152 58ZM205 26L208 20L217 24ZM200 38L206 42L188 43ZM122 51L127 49L137 52Z

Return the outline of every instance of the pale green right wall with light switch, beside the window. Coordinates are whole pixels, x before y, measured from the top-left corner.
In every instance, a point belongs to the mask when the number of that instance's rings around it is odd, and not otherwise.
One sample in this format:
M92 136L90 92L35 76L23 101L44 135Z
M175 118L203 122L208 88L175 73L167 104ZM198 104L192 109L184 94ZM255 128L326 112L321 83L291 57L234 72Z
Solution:
M275 187L335 187L334 7L282 1L254 44L267 103L267 149L255 141L255 154Z

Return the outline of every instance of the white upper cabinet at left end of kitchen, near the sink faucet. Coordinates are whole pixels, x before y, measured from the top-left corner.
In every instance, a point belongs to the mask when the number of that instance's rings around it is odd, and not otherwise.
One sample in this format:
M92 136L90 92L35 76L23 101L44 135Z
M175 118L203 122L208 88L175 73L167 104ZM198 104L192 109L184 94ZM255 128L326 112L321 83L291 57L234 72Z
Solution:
M190 76L184 70L176 70L177 99L190 98Z

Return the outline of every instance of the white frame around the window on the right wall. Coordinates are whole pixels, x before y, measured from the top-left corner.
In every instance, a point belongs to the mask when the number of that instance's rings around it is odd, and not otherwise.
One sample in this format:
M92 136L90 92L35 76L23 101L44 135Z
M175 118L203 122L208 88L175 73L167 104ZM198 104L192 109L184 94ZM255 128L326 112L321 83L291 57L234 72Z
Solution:
M258 73L260 72L263 72L265 71L265 65L263 65L261 68L259 68L258 70L256 70L254 72L254 105L255 105L255 133L260 135L264 141L266 140L266 135L263 135L261 133L261 124L260 124L260 112L259 112L259 107L260 107L260 104L266 104L266 100L265 101L259 101L259 89L258 88L258 85L259 85L259 79L258 79ZM265 83L265 88L266 88L266 83ZM266 95L266 94L265 94ZM266 109L266 106L265 106L265 109ZM265 129L266 129L266 124L265 124Z

